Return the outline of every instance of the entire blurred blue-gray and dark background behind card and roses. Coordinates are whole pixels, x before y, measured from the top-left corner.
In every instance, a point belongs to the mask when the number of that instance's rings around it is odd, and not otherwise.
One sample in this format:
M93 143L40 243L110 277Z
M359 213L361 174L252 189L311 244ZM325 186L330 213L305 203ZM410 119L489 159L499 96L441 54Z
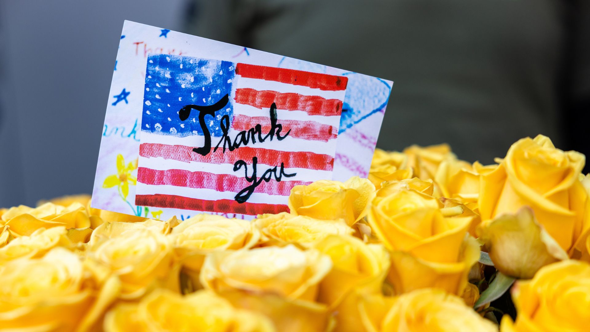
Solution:
M124 19L394 80L381 148L590 153L588 0L0 0L0 207L91 192Z

